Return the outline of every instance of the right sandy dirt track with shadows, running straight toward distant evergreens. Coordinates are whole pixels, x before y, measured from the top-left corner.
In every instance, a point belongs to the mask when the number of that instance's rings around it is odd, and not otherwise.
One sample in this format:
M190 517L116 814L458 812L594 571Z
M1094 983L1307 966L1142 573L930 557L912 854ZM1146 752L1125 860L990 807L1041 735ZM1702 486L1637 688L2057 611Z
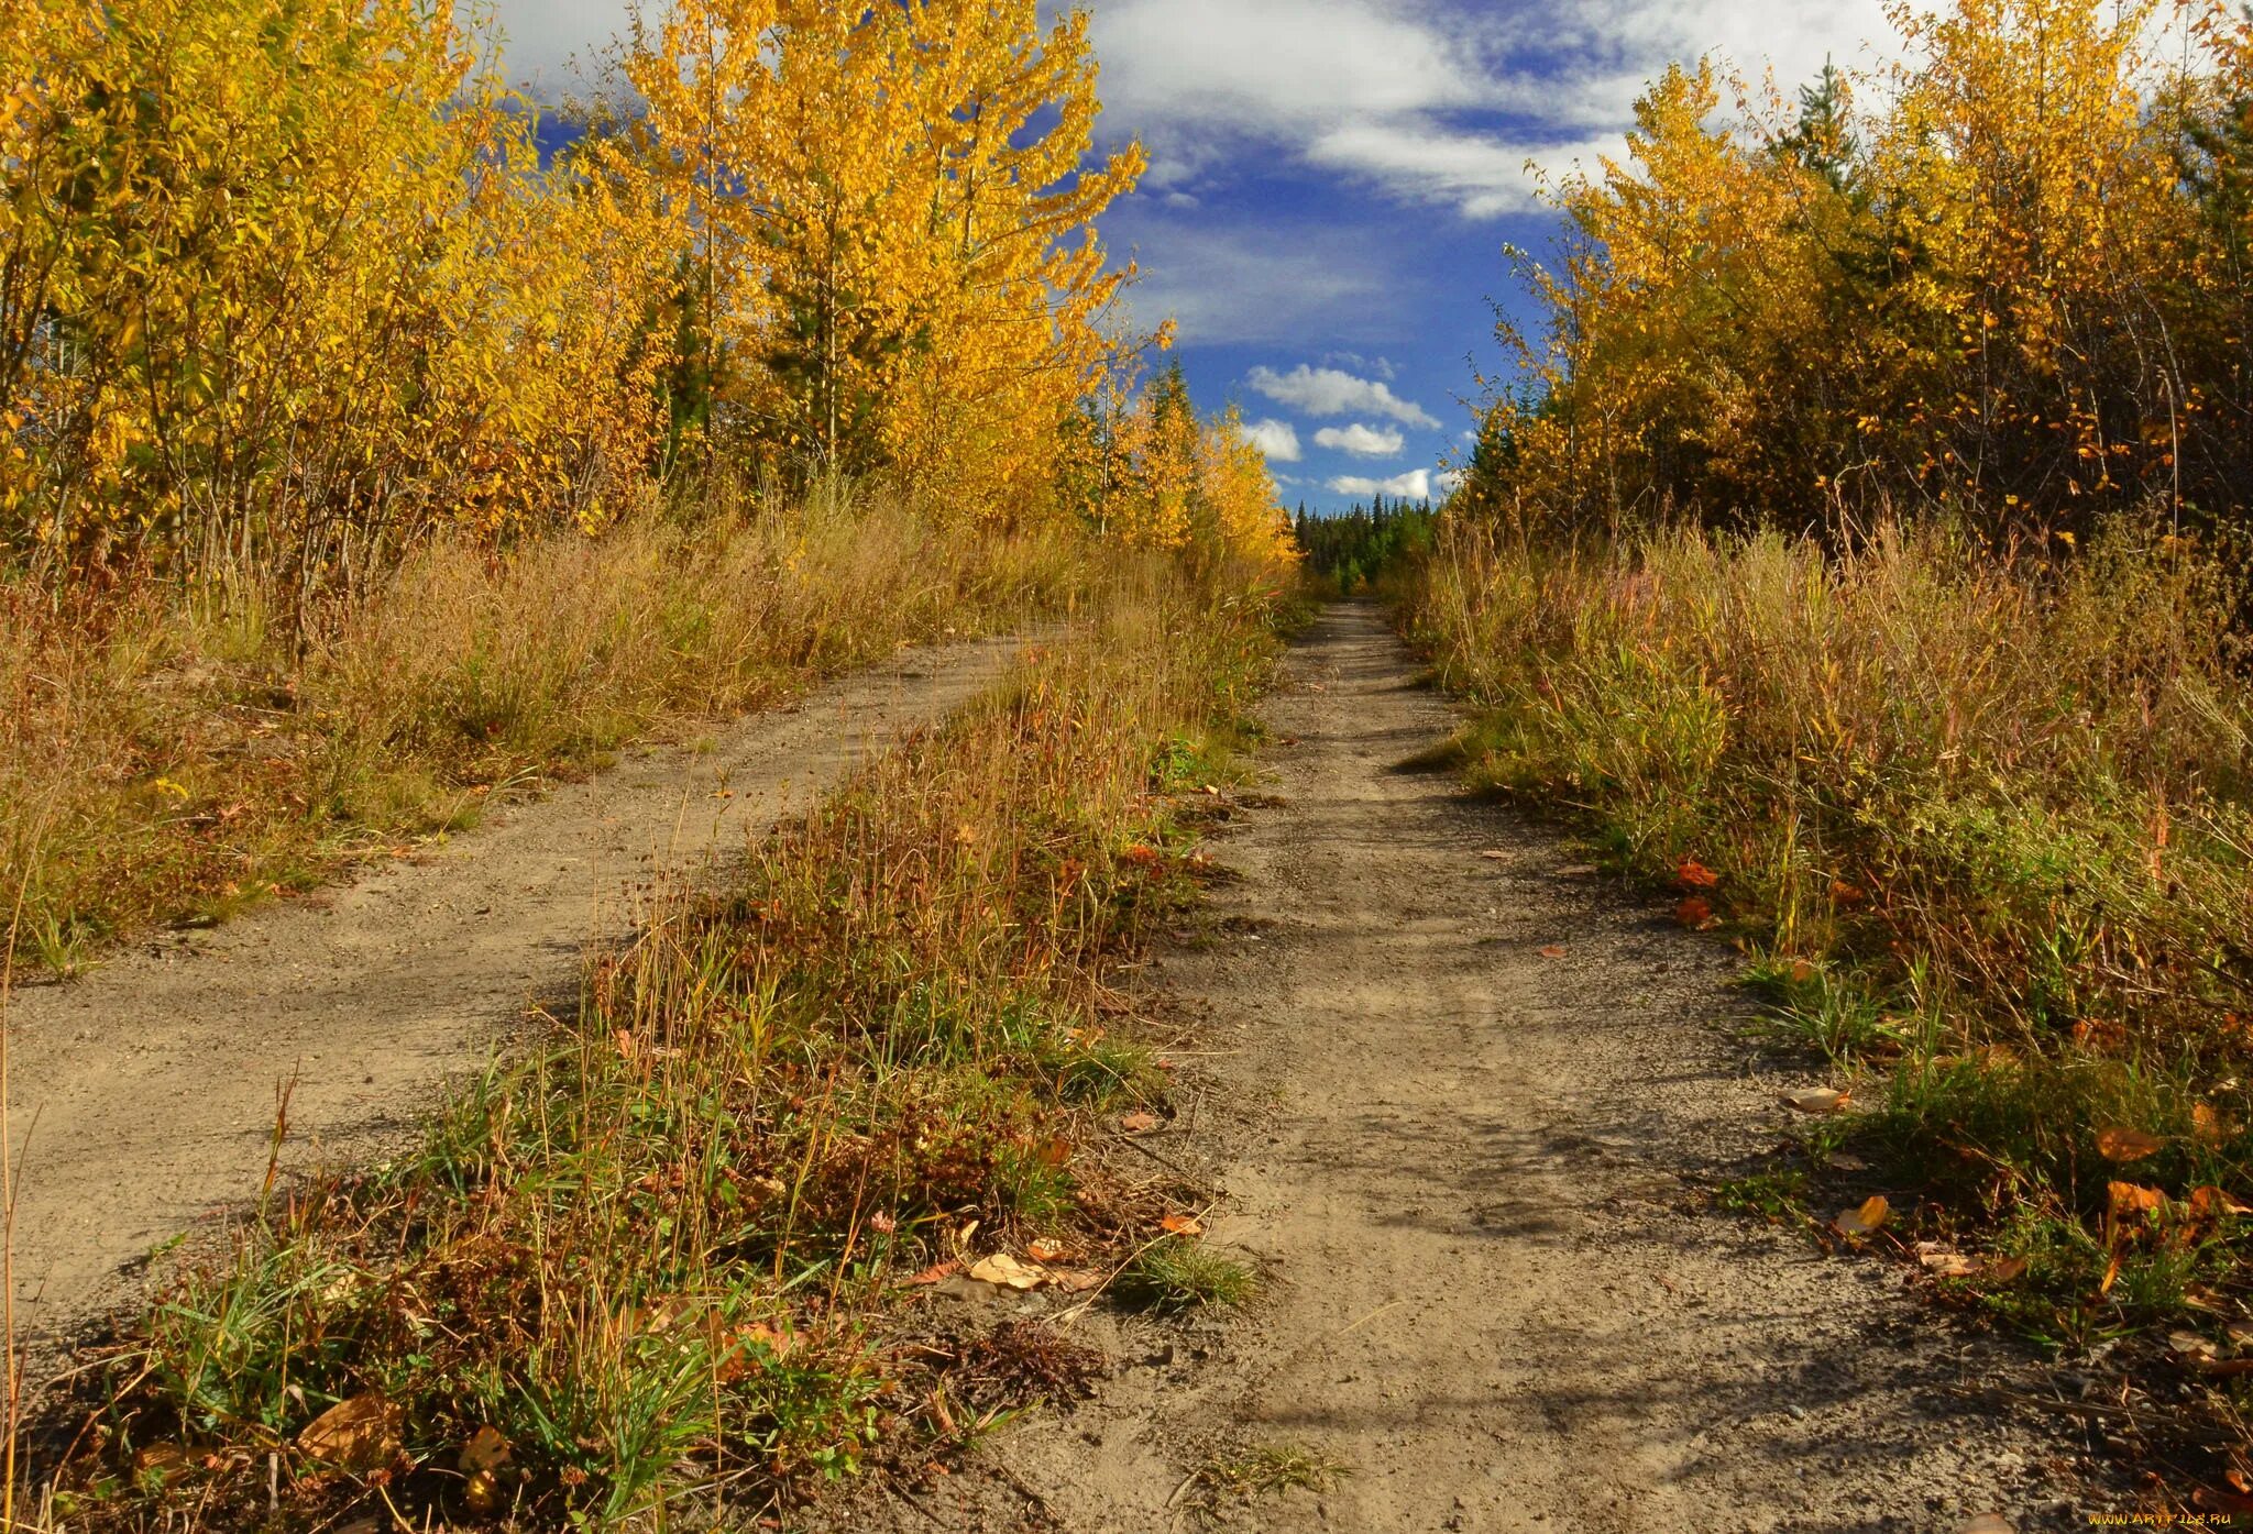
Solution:
M1095 1401L825 1527L2086 1527L2066 1419L1949 1394L2025 1358L1897 1266L1710 1210L1807 1081L1737 1041L1719 944L1404 768L1453 716L1368 610L1323 617L1271 725L1284 804L1217 845L1244 879L1165 964L1221 1056L1151 1142L1221 1189L1212 1239L1264 1297L1097 1313ZM1345 1475L1208 1496L1199 1466L1248 1444Z

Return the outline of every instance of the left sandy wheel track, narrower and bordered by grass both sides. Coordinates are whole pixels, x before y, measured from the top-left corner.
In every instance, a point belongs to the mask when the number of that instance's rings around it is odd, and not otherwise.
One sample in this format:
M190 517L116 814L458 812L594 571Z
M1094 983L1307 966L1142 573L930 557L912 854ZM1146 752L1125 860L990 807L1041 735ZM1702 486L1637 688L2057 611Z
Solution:
M369 1153L527 1005L568 1002L586 944L626 930L660 869L741 847L1014 653L908 653L712 750L642 750L433 856L18 991L16 1316L34 1354L119 1302L151 1246L257 1194L286 1081L286 1167Z

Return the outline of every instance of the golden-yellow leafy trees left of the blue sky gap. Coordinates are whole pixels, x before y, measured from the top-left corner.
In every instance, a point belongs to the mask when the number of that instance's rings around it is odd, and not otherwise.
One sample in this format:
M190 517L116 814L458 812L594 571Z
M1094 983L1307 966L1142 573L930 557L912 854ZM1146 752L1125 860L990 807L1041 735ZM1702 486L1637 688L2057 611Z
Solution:
M1061 514L1131 266L1086 16L676 0L550 158L453 0L0 0L0 545L360 588L689 464Z

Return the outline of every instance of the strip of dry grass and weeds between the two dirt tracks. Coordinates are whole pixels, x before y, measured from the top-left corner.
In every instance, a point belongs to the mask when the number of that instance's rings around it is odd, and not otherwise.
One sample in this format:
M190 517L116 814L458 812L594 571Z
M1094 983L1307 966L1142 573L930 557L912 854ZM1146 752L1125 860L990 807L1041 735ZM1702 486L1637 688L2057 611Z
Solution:
M780 831L737 890L662 899L579 1016L421 1153L277 1196L171 1282L61 1516L750 1518L976 1430L1009 1390L1066 1390L1086 1361L1032 1336L953 1365L892 1352L885 1306L942 1257L1041 1237L1106 1270L1154 1232L1156 1196L1072 1144L1163 1095L1099 1000L1185 897L1165 788L1210 782L1268 610L1117 574L1095 619ZM356 1435L309 1435L338 1403Z

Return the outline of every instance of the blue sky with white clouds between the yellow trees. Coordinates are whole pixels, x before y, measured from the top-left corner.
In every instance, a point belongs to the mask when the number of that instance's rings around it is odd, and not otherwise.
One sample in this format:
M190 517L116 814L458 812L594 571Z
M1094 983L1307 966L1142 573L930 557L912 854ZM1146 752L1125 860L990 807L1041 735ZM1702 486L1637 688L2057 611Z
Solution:
M1437 489L1498 363L1503 246L1539 250L1550 171L1620 144L1669 61L1715 52L1780 88L1868 65L1881 0L1093 0L1108 142L1151 153L1104 218L1172 315L1201 403L1237 401L1284 498ZM577 81L624 0L498 0L511 74Z

